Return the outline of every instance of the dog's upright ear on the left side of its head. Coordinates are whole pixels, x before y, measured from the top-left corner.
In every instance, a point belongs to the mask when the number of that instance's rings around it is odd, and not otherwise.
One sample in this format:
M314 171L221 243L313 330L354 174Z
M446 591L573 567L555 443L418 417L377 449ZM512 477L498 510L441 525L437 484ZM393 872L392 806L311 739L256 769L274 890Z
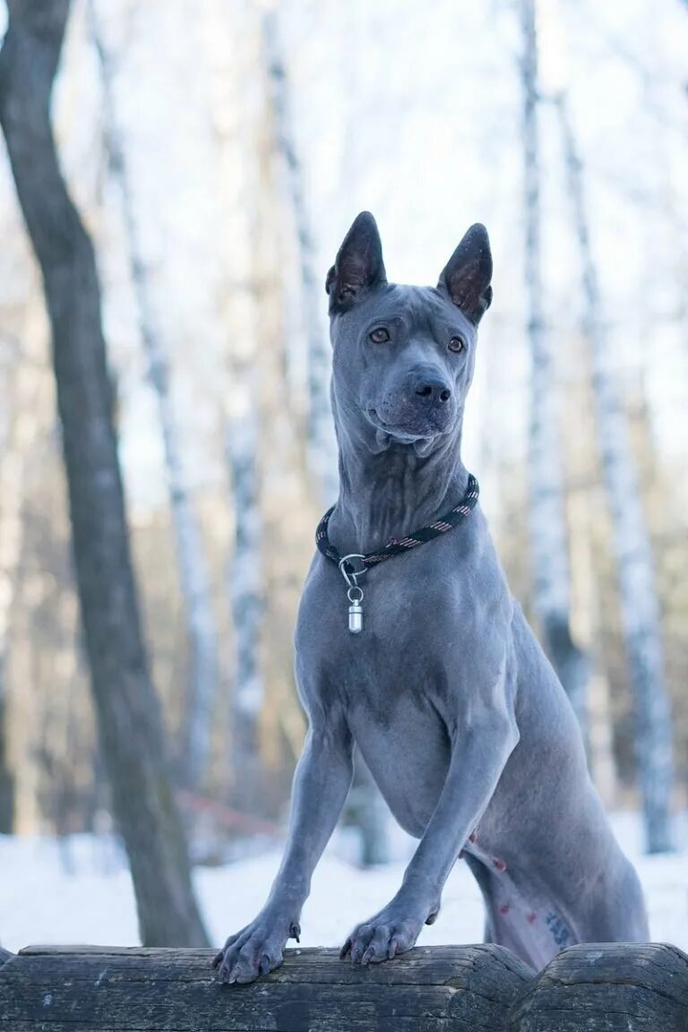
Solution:
M361 212L327 273L325 290L330 298L330 312L346 312L379 283L387 283L383 245L375 220L369 212Z

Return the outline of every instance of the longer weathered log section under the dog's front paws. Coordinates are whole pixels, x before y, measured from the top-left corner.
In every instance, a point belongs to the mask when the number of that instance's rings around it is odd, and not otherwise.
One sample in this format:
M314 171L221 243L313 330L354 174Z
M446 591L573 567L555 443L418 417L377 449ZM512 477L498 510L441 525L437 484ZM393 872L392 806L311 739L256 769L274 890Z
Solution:
M505 1032L533 976L495 945L433 946L369 967L289 949L271 975L221 986L208 949L31 946L0 968L11 1032Z

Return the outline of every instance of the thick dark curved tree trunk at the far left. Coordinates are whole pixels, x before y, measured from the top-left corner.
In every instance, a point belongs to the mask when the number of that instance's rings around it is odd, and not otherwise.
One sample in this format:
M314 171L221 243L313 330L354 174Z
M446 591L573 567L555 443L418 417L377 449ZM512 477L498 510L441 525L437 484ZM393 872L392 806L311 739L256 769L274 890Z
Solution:
M100 744L144 943L205 943L149 675L111 417L93 247L69 197L50 103L69 0L9 0L0 123L40 264L69 490L72 546Z

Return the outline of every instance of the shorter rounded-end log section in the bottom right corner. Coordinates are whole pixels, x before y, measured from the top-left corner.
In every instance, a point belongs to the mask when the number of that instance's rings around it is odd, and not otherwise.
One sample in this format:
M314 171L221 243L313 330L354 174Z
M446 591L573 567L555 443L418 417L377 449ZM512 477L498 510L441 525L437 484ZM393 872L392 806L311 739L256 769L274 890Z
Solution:
M569 946L515 1003L509 1032L688 1032L688 956L658 942Z

